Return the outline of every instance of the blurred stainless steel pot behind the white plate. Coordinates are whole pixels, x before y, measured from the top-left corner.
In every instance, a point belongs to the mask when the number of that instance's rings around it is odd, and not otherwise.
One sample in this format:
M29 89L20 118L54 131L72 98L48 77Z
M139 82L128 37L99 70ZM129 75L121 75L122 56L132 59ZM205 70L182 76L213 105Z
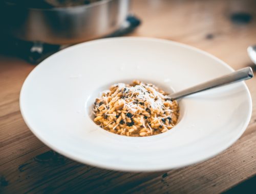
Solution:
M50 9L2 6L2 29L15 38L70 44L99 38L120 28L129 0L102 0L90 5Z

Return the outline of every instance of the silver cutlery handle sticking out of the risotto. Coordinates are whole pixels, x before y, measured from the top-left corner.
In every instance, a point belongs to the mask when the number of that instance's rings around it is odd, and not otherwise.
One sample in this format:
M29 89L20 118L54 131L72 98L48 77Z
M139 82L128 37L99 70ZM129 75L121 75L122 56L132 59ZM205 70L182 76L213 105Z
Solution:
M223 86L223 85L227 85L235 82L240 82L243 80L248 80L252 77L253 77L253 71L251 67L245 67L237 71L231 72L231 74L222 76L220 78L216 78L216 79L207 81L205 83L193 86L191 88L170 94L168 95L168 97L171 99L180 99L193 93L197 93L200 91L216 88L219 86Z

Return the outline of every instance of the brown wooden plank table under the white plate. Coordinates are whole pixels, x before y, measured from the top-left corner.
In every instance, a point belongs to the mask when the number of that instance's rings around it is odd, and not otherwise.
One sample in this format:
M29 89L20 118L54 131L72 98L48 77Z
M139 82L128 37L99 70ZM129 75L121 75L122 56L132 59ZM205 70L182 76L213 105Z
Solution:
M251 66L255 71L246 52L256 43L255 8L253 0L133 1L132 12L142 25L131 36L179 41L219 57L234 69ZM231 21L230 15L238 12L250 15L235 14ZM180 169L123 173L65 158L31 133L18 101L20 87L33 68L21 59L0 57L0 192L216 193L256 174L256 78L246 81L253 101L249 126L229 149Z

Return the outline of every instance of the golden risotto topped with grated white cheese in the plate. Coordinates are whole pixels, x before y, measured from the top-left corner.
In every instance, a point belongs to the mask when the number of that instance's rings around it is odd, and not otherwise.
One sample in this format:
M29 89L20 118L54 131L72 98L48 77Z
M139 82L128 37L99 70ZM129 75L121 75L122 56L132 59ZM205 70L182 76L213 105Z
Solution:
M153 84L118 83L96 99L94 122L119 135L143 137L172 129L179 117L177 101Z

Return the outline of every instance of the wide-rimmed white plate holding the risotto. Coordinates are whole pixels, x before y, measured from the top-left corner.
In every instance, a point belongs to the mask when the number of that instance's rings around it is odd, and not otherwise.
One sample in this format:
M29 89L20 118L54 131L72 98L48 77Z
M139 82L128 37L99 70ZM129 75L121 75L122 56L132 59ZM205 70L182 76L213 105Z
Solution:
M20 110L31 131L69 158L121 171L160 171L206 160L245 131L251 97L244 82L180 101L178 125L150 137L126 137L90 118L99 92L139 79L175 91L233 71L197 48L154 38L109 38L81 43L41 62L20 93Z

